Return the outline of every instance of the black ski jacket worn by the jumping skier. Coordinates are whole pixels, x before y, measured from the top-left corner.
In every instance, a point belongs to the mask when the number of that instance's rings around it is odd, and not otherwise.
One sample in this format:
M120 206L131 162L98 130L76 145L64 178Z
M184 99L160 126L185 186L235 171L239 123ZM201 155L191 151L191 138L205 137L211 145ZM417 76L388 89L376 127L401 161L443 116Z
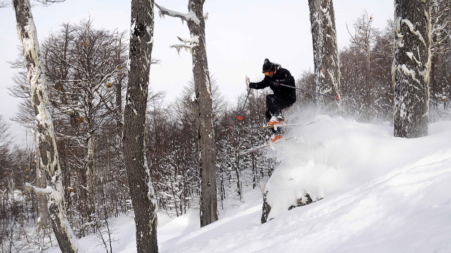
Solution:
M255 83L255 89L262 89L266 87L270 87L274 94L282 95L288 102L291 104L296 102L296 87L294 77L291 75L290 71L281 67L279 64L276 64L276 73L274 73L273 77L269 75L265 75L262 81ZM275 86L272 81L278 80L279 83L292 86L293 88L277 85Z

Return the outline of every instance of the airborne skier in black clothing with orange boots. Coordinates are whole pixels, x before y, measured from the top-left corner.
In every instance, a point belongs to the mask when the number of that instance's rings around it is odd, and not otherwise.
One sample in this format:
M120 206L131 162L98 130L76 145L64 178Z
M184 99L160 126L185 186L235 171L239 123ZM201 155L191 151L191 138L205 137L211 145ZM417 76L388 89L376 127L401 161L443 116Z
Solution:
M284 123L282 110L296 102L295 80L290 71L279 64L269 61L269 59L265 59L263 63L263 73L265 74L265 78L259 82L249 83L249 87L254 89L270 87L273 90L273 94L266 96L267 110L265 117L269 125L277 126ZM273 135L271 136L273 142L282 138L283 132L281 127L273 127L271 130L273 131Z

